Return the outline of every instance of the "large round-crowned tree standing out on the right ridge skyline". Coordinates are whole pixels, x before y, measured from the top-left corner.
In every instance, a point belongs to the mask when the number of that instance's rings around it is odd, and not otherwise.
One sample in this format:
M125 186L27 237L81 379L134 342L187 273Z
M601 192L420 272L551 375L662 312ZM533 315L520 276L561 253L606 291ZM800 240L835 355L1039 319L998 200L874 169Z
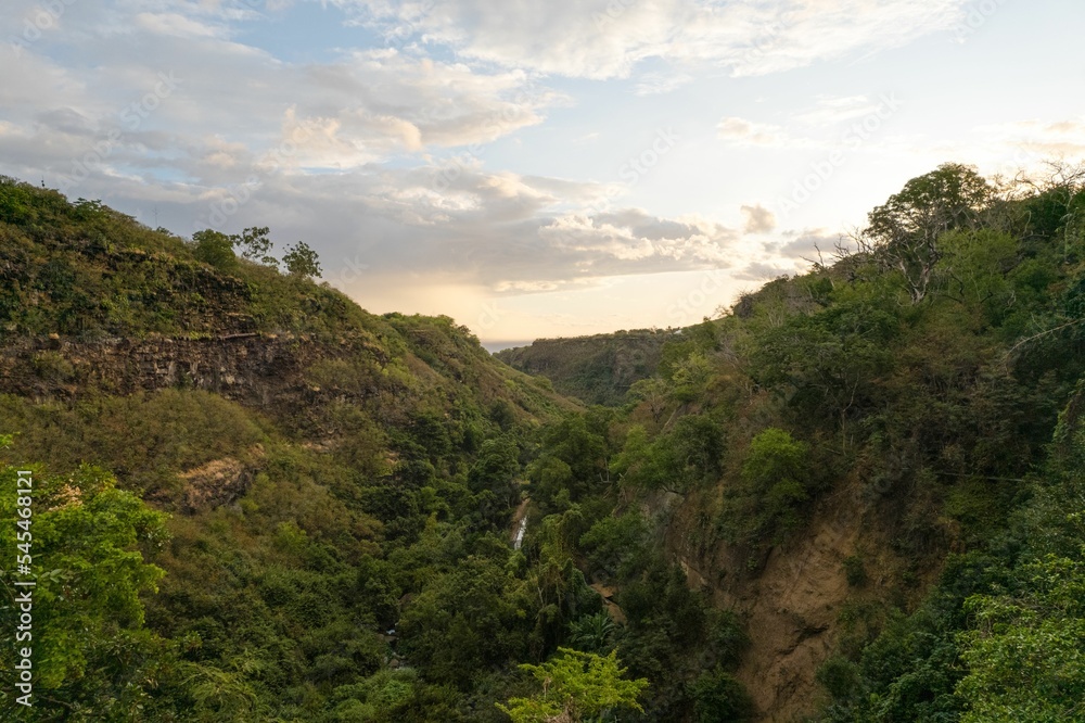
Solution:
M911 302L918 304L942 258L939 237L954 229L974 228L993 196L992 186L973 168L943 164L912 178L899 193L871 211L860 245L904 275Z

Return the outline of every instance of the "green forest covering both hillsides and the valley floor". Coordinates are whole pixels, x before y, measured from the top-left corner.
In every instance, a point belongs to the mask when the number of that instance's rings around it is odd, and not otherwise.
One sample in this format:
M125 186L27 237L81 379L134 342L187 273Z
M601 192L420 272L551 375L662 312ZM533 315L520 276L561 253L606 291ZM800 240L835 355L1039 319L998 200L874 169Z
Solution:
M272 251L0 179L4 720L1085 721L1085 170L942 165L618 391Z

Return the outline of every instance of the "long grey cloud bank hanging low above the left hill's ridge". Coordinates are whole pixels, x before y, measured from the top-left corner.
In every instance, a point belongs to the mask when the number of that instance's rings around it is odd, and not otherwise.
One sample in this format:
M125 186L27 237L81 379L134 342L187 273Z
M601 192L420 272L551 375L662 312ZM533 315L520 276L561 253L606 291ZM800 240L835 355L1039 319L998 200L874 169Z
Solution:
M620 204L600 213L563 211L598 196L597 183L467 164L454 182L443 178L437 165L376 164L348 174L273 173L251 188L221 189L148 185L135 174L88 179L80 194L107 203L125 199L144 212L154 207L159 223L182 232L258 225L272 229L279 246L304 239L320 252L326 279L363 305L373 284L390 278L442 278L518 295L599 284L612 276L727 267L738 253L741 234L706 218L663 217ZM237 202L224 204L231 194ZM213 223L212 210L222 207L229 213Z

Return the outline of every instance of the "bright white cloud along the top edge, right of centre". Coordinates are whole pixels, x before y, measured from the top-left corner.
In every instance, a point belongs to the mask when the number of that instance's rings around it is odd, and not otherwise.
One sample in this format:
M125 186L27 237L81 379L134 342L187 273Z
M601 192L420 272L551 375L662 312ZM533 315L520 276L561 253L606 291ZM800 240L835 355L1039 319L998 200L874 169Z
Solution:
M648 59L762 75L904 46L950 29L965 0L556 0L493 12L488 0L339 0L357 22L401 41L570 77L628 77Z

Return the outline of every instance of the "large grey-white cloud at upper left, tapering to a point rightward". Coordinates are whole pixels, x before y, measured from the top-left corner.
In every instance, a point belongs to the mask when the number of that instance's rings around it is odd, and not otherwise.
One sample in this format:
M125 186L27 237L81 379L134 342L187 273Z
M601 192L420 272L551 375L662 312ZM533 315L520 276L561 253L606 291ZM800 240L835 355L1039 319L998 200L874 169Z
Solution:
M145 112L136 127L125 128L120 145L165 131L184 152L173 158L177 170L209 183L244 178L246 163L298 130L307 142L297 150L296 167L343 170L401 153L488 143L538 125L548 107L566 102L523 71L477 69L394 48L284 62L233 39L229 23L237 13L228 12L229 3L132 0L154 12L130 16L114 7L91 13L85 5L65 5L64 24L36 42L0 48L0 61L17 68L0 86L0 118L62 166L68 165L65 154L81 155L71 143L71 124L56 125L62 114L80 117L80 132L92 145L126 125L126 110L153 93L164 75L177 79L176 89L140 109ZM73 51L80 63L53 59ZM221 141L246 148L232 164L219 158L205 165L210 154L202 147ZM235 175L214 175L228 167Z

